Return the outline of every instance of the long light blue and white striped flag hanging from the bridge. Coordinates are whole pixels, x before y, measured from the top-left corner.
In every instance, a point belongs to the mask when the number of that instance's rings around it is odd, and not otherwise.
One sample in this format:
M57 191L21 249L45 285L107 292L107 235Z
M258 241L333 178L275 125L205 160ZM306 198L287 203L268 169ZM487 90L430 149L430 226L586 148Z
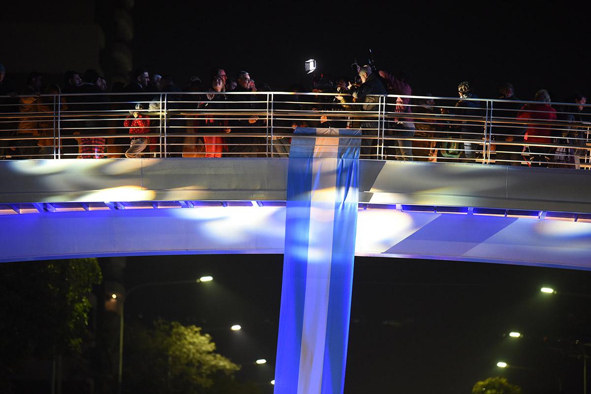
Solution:
M359 130L296 129L287 178L275 393L341 394L359 199Z

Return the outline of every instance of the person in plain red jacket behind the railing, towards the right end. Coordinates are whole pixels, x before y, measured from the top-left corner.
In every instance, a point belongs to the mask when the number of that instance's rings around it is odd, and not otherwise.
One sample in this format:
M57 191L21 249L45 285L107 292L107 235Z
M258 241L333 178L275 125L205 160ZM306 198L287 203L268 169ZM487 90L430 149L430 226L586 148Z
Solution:
M525 104L519 113L518 119L534 120L536 123L550 123L556 120L556 110L550 104L550 94L547 90L538 90L535 93L534 101L539 101L535 104ZM533 124L529 123L525 130L524 141L534 144L549 144L553 141L553 131L550 124ZM547 146L527 146L530 151L531 165L534 166L548 166L550 162L551 147Z

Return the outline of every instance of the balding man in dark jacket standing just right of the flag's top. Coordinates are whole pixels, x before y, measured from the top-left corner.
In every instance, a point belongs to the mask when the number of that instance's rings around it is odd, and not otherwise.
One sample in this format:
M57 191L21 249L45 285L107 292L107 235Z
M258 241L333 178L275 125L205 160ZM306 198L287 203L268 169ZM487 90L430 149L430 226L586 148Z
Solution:
M349 90L356 103L363 103L361 106L355 106L355 110L359 111L359 107L363 111L378 111L379 97L370 96L373 94L387 94L384 84L379 80L371 67L366 65L359 70L359 77L361 77L361 85L359 87L349 84ZM361 134L362 136L377 136L378 135L378 117L376 114L371 117L365 117L361 120ZM363 159L377 158L377 139L361 140L361 157Z

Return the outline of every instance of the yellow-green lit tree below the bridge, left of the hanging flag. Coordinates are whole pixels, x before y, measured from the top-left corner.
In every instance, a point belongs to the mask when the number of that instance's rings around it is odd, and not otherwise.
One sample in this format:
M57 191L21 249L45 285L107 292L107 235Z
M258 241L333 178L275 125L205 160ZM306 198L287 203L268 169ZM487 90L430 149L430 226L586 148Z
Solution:
M157 320L151 329L129 327L126 333L124 382L133 392L199 393L216 376L239 369L215 353L212 337L200 327Z

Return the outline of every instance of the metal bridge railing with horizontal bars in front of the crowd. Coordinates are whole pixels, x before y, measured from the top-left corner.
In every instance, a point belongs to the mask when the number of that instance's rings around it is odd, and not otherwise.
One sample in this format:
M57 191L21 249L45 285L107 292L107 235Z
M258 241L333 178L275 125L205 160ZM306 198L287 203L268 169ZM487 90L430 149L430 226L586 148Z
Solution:
M287 157L296 127L335 127L362 129L362 159L589 169L587 107L288 92L4 96L0 159Z

